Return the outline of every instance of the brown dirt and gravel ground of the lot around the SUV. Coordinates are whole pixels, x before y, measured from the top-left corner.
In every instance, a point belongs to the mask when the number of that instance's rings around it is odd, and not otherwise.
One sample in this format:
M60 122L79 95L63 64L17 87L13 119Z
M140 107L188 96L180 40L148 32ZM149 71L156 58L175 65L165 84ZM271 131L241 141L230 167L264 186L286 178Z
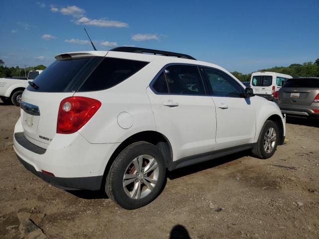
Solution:
M319 120L288 119L287 144L270 159L245 151L170 172L153 203L127 211L27 171L12 148L18 117L0 103L1 239L319 239Z

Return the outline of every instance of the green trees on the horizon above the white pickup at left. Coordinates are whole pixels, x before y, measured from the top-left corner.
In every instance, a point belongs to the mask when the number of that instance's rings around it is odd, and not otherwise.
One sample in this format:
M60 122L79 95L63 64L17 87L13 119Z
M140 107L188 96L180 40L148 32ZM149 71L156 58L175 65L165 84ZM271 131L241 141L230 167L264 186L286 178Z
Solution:
M44 70L46 66L37 65L34 67L7 67L3 66L4 62L0 59L0 78L10 78L10 77L25 77L28 75L29 71L33 70Z

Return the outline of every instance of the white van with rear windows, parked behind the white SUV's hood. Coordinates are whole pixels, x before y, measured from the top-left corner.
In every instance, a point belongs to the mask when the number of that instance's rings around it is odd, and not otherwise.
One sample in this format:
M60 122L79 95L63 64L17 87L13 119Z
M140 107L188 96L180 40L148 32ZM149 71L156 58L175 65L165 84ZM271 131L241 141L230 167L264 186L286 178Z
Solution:
M284 82L290 78L293 77L276 72L254 72L251 75L250 85L254 90L254 94L272 101L275 91L278 91Z

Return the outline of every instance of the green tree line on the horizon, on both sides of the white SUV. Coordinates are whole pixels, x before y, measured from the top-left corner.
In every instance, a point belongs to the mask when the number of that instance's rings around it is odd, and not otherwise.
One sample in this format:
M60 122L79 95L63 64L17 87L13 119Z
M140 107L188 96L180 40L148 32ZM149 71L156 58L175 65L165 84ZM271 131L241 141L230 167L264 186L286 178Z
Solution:
M29 71L44 70L46 66L37 65L35 67L19 68L3 66L4 62L0 59L0 78L27 76ZM304 64L291 64L290 66L275 66L269 69L260 69L258 71L270 71L291 75L292 77L319 77L319 58L313 62L305 62ZM250 81L252 73L243 74L238 71L231 72L240 81Z

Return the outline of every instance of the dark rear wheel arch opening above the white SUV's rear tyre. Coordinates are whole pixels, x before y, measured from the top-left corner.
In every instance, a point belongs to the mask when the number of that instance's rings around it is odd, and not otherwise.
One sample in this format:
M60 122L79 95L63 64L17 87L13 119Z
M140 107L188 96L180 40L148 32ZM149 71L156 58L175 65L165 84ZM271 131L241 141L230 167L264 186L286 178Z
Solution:
M113 164L116 157L119 155L119 153L121 153L130 144L132 144L134 142L138 142L138 141L146 141L146 142L152 143L155 146L157 146L159 148L160 152L163 154L163 157L165 159L165 163L166 163L165 167L166 168L169 167L169 165L171 164L172 159L173 159L173 152L172 152L171 144L168 141L168 139L158 131L148 130L148 131L138 132L138 133L133 134L132 136L128 137L126 140L124 140L112 153L109 161L106 164L105 170L104 170L103 181L102 181L101 187L103 187L103 185L105 183L106 176L110 170L110 167Z

